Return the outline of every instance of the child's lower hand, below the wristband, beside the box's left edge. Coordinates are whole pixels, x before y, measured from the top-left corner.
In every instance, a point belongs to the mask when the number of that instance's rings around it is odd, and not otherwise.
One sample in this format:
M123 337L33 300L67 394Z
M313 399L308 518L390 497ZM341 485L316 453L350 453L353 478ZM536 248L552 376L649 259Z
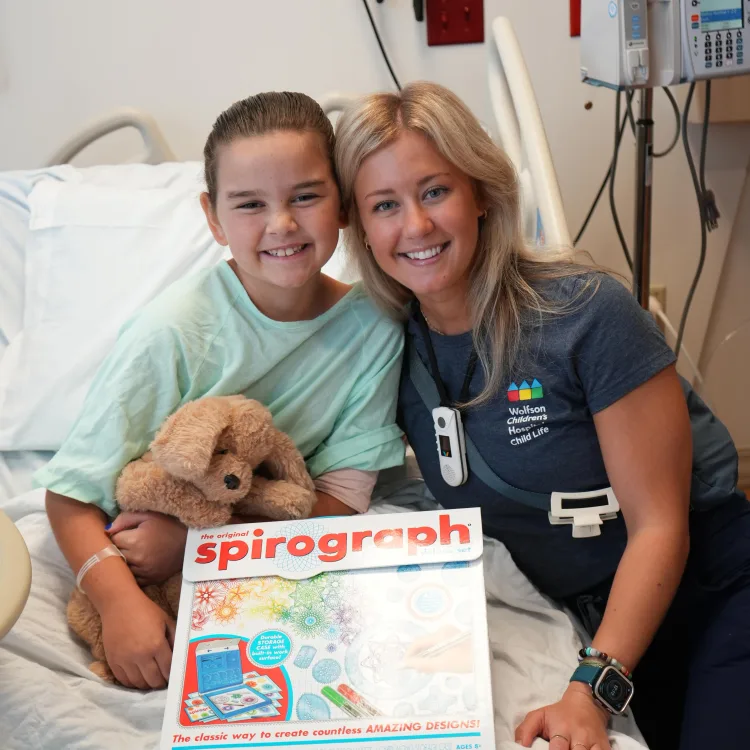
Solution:
M117 680L140 690L165 687L172 663L174 620L138 589L100 614L104 652Z

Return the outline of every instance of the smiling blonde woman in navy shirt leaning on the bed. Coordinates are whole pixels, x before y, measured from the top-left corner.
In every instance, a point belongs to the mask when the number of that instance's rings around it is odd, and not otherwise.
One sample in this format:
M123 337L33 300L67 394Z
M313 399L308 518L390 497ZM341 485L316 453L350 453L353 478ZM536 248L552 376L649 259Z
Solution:
M513 168L450 91L362 99L335 153L348 246L405 322L399 421L425 481L446 507L481 506L485 533L593 637L516 740L605 750L634 691L652 748L746 748L750 506L731 438L648 314L615 279L524 247ZM443 478L415 370L508 493L471 457L463 484ZM587 538L515 497L610 487L621 512Z

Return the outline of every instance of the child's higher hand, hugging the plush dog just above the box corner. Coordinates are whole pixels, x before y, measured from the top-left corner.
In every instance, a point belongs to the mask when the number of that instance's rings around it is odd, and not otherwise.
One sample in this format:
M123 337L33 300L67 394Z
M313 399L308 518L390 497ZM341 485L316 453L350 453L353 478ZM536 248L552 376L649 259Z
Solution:
M120 513L108 530L110 539L141 586L162 583L182 570L187 528L162 513Z

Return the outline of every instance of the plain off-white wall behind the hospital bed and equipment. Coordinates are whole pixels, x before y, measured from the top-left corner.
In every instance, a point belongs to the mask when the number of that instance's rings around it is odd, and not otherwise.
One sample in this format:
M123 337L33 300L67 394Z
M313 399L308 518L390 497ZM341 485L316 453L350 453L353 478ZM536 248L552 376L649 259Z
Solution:
M498 15L510 17L516 28L575 233L611 156L614 94L579 82L579 43L567 34L567 5L562 0L485 0L485 13L488 36ZM382 5L370 0L370 6L402 81L439 81L490 123L482 45L427 47L424 24L413 20L411 0L385 0ZM40 165L81 125L125 104L156 117L178 158L197 159L216 115L250 93L298 89L320 97L331 90L357 93L390 86L359 0L0 0L0 169ZM682 101L684 87L677 94ZM586 110L589 101L593 107ZM660 149L671 138L673 117L659 92L655 117ZM132 137L111 136L82 163L120 160L134 149ZM710 235L709 258L690 316L686 344L696 356L709 325L749 160L747 127L712 131L707 177L722 222ZM617 195L629 239L633 163L628 135ZM750 213L750 190L742 212ZM656 164L654 217L652 281L667 285L667 308L676 322L699 240L695 197L680 149ZM582 244L598 262L626 270L606 201ZM741 236L735 235L732 252L748 253L748 245L745 226ZM745 264L745 289L747 272ZM750 317L750 295L742 286L735 284L722 298L725 312L715 319L712 336L722 335L724 321ZM739 378L740 373L728 377ZM743 404L731 405L732 415L721 416L750 423L748 401L744 397ZM738 407L744 408L739 409L741 420ZM742 439L750 443L747 432Z

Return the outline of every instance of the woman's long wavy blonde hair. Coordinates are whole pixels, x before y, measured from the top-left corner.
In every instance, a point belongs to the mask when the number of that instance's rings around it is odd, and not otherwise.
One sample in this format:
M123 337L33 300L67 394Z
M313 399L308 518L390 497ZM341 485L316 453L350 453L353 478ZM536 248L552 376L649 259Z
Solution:
M336 128L337 175L349 213L345 245L368 292L383 309L405 319L414 295L385 274L365 246L354 181L362 162L405 130L430 138L443 157L468 175L479 205L487 210L479 220L468 291L474 345L486 382L484 390L469 403L484 403L498 393L504 377L518 364L523 327L570 308L545 300L539 282L583 274L587 269L573 262L572 250L526 247L518 179L510 160L453 92L420 81L398 94L363 97L341 115ZM592 284L598 282L590 277L575 298Z

